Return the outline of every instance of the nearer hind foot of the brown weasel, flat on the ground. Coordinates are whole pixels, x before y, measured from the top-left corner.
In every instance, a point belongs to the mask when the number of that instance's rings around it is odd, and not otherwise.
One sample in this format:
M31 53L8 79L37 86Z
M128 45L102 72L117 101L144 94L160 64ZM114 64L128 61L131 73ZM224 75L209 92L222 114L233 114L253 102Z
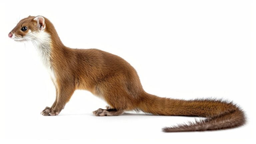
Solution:
M124 113L124 110L122 109L98 109L96 111L93 111L93 114L95 116L118 116Z

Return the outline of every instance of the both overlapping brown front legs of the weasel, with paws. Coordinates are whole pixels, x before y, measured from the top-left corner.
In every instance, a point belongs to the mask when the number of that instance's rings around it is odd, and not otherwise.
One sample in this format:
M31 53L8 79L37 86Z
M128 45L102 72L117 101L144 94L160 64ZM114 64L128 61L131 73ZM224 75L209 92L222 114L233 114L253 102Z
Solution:
M41 114L44 116L58 115L60 111L64 109L66 103L69 101L74 91L75 87L72 85L62 85L61 87L59 87L57 89L57 96L55 102L53 103L53 106L50 109L46 107L46 109Z

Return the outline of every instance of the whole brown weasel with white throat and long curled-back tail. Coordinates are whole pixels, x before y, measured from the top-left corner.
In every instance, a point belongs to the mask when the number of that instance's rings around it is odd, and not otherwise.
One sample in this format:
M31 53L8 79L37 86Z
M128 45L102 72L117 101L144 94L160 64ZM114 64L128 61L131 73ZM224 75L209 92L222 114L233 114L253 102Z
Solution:
M53 24L42 16L22 19L8 35L15 41L31 41L39 50L56 88L56 99L44 116L58 115L76 89L88 90L109 106L95 116L118 116L141 110L153 115L197 116L206 119L163 128L164 132L204 131L245 124L243 110L218 99L179 100L148 94L136 70L117 55L98 49L71 49L62 44Z

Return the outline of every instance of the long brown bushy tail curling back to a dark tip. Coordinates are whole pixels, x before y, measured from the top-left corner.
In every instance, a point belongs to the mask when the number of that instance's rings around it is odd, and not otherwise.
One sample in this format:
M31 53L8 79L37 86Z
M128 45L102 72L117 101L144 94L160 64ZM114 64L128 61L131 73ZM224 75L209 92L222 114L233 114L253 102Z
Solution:
M206 117L188 124L180 124L163 128L164 132L186 132L229 129L246 123L243 110L236 104L218 99L178 100L157 97L147 94L143 96L139 108L145 113L169 116Z

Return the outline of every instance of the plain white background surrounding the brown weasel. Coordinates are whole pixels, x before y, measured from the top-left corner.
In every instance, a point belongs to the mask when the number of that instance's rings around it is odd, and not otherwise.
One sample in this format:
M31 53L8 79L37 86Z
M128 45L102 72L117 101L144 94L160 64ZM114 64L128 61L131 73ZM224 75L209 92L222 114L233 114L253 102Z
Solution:
M0 5L0 143L245 143L255 136L255 2L4 1ZM125 113L95 117L101 99L76 91L59 116L55 89L31 43L8 38L29 15L47 17L71 48L98 48L121 56L138 72L148 93L232 100L247 113L240 128L163 133L193 117ZM248 142L249 143L249 142Z

